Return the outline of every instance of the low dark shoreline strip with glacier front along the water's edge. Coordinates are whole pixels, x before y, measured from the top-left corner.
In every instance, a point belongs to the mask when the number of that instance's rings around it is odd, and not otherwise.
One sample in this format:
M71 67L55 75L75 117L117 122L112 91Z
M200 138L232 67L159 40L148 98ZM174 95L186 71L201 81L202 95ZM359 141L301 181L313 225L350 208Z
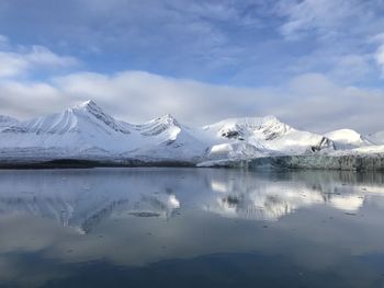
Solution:
M242 160L210 160L202 162L138 159L0 160L0 170L91 169L91 168L228 168L248 170L336 170L384 171L384 155L279 155Z

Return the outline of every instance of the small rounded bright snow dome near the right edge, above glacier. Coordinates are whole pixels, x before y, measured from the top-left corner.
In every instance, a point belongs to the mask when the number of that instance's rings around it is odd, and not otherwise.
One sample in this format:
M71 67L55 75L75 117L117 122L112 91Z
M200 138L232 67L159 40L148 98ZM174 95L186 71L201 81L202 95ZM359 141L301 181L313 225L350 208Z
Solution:
M351 129L335 130L325 136L334 141L337 149L353 149L372 145L364 136Z

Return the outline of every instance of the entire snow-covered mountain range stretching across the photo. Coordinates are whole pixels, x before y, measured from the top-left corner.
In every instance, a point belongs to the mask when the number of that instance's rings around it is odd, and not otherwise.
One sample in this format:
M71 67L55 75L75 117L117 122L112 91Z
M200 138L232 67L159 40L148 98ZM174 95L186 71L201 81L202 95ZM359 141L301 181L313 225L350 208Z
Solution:
M355 154L360 151L357 149L373 148L384 152L374 146L381 135L374 137L349 129L326 135L302 131L274 116L229 118L189 128L167 114L134 125L87 101L26 122L0 117L0 164L60 159L197 164L261 157Z

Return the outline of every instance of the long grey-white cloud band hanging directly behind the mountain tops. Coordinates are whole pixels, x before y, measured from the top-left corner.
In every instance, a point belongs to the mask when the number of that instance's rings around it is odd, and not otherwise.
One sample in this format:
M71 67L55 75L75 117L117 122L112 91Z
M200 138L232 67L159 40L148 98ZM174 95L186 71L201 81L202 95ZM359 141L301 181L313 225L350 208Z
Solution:
M303 129L383 129L383 91L340 87L323 74L302 74L282 88L235 88L143 71L76 72L48 82L0 81L0 114L27 118L92 99L106 112L140 123L171 113L195 126L226 117L275 115Z

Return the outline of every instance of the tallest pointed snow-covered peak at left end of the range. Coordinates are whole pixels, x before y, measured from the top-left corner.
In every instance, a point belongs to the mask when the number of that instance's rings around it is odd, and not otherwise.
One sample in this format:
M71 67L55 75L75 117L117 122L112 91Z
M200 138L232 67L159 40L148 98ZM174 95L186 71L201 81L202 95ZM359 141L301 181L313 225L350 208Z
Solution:
M71 153L129 149L131 131L88 101L58 114L11 125L1 131L2 148L56 148Z

